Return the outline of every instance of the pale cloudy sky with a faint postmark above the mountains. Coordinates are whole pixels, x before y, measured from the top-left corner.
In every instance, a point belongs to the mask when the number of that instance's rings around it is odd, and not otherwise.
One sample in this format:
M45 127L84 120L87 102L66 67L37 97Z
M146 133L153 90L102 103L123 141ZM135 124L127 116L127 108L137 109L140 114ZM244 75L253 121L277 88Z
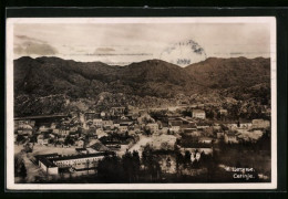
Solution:
M207 57L270 55L267 23L17 23L14 59L59 56L111 65L161 59L181 66Z

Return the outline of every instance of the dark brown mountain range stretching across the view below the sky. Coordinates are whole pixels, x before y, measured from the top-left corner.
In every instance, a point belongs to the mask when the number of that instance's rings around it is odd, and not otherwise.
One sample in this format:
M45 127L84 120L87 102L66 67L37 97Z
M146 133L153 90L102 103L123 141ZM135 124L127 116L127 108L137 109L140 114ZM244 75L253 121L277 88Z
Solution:
M178 94L227 93L227 90L246 90L259 84L267 85L269 93L269 82L270 59L264 57L209 57L186 67L162 60L125 66L47 56L14 60L16 98L59 94L73 100L95 98L103 92L173 98Z

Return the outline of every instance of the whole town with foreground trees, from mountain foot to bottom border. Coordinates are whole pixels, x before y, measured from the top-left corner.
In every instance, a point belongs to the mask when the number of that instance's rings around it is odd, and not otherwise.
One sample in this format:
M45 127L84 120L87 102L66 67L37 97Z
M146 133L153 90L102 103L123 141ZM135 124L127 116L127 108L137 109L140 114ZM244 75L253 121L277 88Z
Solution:
M16 117L14 172L20 182L232 181L230 168L253 165L248 175L270 180L269 166L257 161L270 160L269 109L253 119L230 112L185 104Z

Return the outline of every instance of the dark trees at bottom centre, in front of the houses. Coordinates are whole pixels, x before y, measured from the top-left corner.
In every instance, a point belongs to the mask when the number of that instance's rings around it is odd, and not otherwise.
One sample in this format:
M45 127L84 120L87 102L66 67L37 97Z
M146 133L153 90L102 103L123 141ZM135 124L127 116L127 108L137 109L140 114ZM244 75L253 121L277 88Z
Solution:
M195 151L197 154L197 151ZM195 154L194 157L195 157ZM99 161L96 180L103 182L165 182L171 179L185 180L189 176L187 170L214 169L212 156L200 154L200 159L192 161L192 154L185 151L183 155L179 148L174 150L153 150L148 145L144 147L142 157L138 151L126 151L122 157L107 155ZM163 165L161 165L161 161ZM171 168L176 164L175 172L163 170L163 167ZM186 172L184 171L186 170Z

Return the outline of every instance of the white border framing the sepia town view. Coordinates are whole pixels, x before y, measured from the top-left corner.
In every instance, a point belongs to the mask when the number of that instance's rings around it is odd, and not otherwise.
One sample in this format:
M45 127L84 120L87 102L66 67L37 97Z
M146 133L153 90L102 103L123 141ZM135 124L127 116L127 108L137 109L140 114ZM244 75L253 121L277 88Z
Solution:
M14 184L13 156L13 24L17 23L267 23L270 25L271 77L271 182L235 184ZM198 189L276 189L277 188L277 86L276 18L8 18L6 60L6 171L9 190L198 190Z

